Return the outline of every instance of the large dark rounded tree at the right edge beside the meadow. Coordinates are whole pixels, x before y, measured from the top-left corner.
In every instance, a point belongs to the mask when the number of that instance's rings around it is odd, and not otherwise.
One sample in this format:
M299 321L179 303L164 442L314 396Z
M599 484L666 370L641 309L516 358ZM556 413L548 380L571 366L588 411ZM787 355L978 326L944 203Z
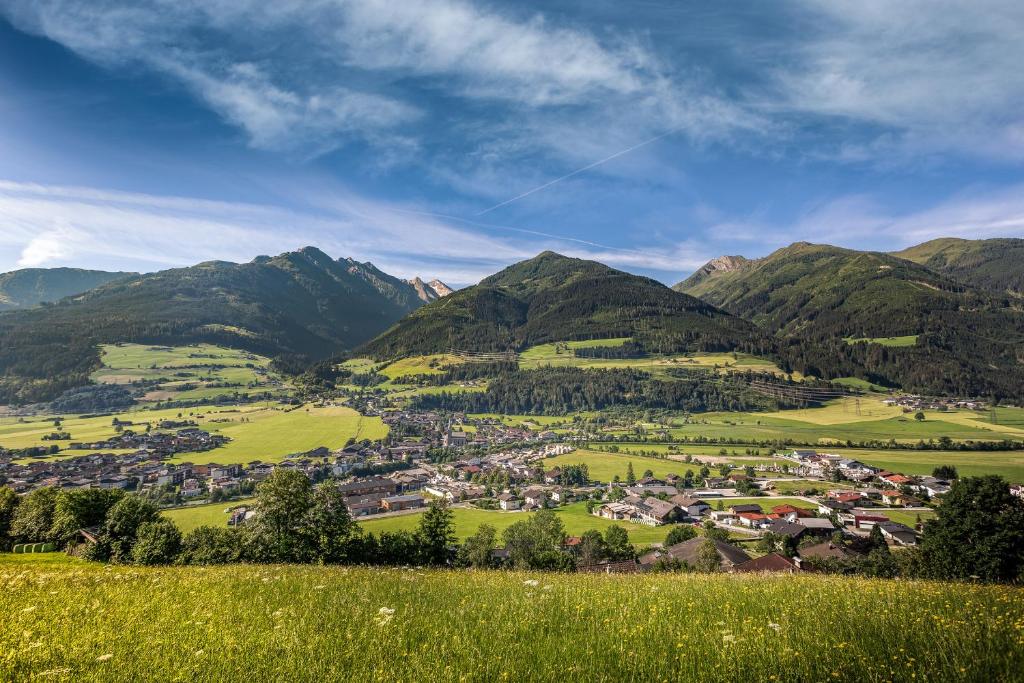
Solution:
M925 524L921 566L934 579L1012 582L1024 572L1024 500L999 476L956 480Z

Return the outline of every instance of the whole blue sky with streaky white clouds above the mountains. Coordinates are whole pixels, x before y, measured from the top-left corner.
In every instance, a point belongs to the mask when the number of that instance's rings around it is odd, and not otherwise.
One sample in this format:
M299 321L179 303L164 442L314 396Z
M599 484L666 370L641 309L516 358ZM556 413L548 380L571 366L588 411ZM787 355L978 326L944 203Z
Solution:
M1024 236L1024 3L0 0L0 270Z

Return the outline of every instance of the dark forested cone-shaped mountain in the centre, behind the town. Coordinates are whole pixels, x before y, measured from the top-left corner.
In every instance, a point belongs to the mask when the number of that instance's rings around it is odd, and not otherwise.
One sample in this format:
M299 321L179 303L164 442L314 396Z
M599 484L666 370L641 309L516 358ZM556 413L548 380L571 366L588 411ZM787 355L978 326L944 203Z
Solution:
M391 358L612 337L635 337L651 350L710 350L757 336L750 324L648 278L544 252L423 306L362 350Z

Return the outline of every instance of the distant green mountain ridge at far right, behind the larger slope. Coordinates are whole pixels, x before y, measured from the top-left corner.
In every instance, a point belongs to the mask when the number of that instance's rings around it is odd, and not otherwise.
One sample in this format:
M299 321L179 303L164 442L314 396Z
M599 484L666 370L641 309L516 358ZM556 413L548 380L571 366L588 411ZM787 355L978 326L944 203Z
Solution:
M952 280L989 290L1024 295L1024 240L941 238L893 256L928 266Z

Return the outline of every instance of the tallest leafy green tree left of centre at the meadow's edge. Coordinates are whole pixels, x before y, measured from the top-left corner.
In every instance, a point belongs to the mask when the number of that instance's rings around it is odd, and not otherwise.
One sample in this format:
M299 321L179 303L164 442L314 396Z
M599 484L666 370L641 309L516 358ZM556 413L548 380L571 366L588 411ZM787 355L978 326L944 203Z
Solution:
M305 474L275 469L256 488L255 515L246 523L246 556L255 562L305 562L313 555L309 512L312 483Z

